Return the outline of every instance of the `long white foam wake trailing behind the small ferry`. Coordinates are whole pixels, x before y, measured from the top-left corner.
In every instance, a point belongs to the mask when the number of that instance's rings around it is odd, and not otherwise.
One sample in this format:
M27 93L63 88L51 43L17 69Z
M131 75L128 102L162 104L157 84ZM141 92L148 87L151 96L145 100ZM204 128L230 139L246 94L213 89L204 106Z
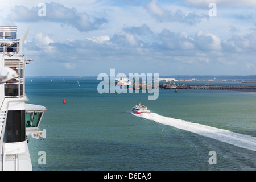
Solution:
M247 148L249 150L256 151L256 138L249 135L234 133L229 130L218 129L216 127L192 123L181 119L168 118L162 115L158 115L156 113L142 113L139 115L134 115L161 123L163 125L173 126L177 129L190 131L192 133L203 135L205 137L210 137L221 142L233 144L237 147Z

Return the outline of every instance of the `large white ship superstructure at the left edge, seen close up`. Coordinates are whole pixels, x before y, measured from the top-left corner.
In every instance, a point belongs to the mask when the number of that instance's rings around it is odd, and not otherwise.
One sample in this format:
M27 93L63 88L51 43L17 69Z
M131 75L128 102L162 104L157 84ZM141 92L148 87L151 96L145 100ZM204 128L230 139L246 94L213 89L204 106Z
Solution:
M46 138L46 130L39 128L46 107L26 104L25 67L32 60L24 59L22 44L28 31L17 39L16 26L0 26L1 171L31 171L28 139Z

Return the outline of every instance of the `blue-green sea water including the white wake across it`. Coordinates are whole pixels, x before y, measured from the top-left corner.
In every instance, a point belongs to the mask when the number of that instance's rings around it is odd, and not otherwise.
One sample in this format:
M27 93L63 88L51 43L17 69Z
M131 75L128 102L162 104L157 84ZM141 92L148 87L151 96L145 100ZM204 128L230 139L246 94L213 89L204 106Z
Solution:
M148 100L142 93L99 94L99 82L26 80L28 103L48 109L40 124L47 137L29 137L34 170L256 169L255 92L160 89ZM151 113L131 114L139 102ZM46 164L38 162L40 151Z

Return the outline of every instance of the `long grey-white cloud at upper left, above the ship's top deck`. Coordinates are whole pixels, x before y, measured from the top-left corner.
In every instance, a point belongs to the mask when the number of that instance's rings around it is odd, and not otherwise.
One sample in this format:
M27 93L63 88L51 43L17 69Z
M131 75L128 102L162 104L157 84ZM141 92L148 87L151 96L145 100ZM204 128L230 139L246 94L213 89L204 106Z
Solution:
M16 22L57 22L75 27L81 32L92 31L101 28L108 22L105 18L94 17L93 20L85 12L79 13L75 8L68 8L59 3L45 3L46 16L38 16L39 7L29 9L26 6L14 6L13 17Z

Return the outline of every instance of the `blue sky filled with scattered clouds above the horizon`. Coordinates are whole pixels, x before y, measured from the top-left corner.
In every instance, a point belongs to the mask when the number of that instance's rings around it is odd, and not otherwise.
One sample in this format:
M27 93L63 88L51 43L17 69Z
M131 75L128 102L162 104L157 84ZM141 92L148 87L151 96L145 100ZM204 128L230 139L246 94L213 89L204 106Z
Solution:
M255 0L0 0L26 76L256 75Z

